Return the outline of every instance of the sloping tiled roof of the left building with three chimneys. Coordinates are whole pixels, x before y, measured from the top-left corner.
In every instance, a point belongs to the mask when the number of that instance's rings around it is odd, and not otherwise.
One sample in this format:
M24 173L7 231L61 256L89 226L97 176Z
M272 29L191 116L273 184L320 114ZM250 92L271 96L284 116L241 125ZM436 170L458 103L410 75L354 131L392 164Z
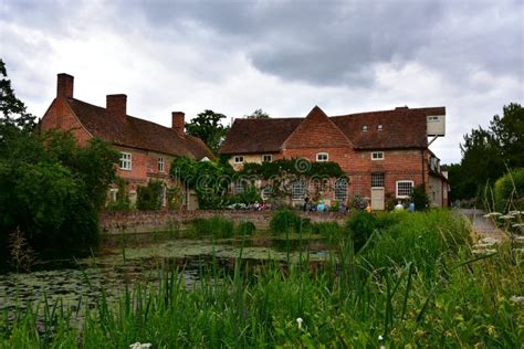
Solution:
M197 160L212 158L201 139L186 135L180 137L169 127L127 116L119 120L102 108L78 99L67 98L67 104L81 124L94 137L116 146L151 150L172 156L189 156Z

